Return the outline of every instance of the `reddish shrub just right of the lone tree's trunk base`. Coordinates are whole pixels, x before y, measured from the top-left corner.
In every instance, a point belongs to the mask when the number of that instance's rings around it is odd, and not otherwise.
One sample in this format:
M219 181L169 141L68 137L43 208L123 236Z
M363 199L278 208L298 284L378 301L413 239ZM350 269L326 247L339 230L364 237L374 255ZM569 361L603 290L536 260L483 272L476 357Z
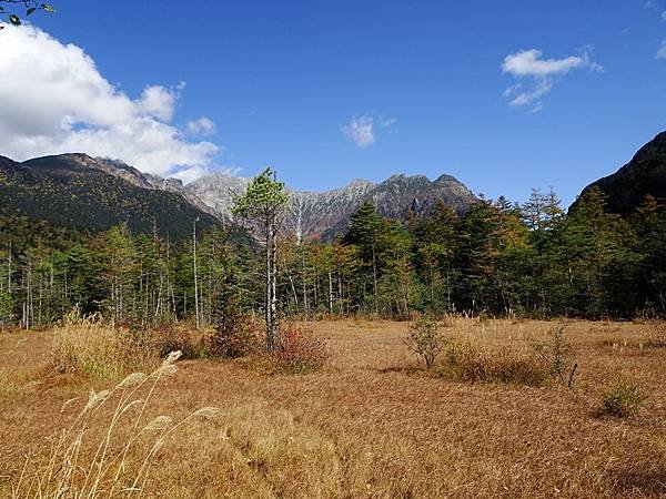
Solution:
M310 373L324 366L329 350L311 329L289 324L280 332L275 352L270 357L282 373Z

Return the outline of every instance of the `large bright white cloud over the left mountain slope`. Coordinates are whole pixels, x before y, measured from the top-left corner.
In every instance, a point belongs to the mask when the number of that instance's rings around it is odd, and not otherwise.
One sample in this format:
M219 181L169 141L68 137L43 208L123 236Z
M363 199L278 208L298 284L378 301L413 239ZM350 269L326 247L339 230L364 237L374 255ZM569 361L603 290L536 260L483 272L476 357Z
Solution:
M186 140L172 123L184 84L150 85L132 99L81 48L37 28L2 30L0 74L0 154L16 160L84 152L157 175L193 176L220 150Z

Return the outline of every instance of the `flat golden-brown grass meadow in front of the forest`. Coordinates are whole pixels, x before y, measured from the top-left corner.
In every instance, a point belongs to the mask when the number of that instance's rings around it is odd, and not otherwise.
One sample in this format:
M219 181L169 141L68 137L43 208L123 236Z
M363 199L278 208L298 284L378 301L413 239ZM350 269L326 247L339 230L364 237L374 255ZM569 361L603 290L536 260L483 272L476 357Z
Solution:
M178 421L202 407L219 411L165 438L142 487L128 491L125 481L111 490L104 482L97 497L666 497L666 349L643 346L645 324L568 323L571 358L578 364L572 389L434 376L405 348L405 323L309 326L331 354L317 373L266 376L243 359L178 361L178 371L157 384L142 421L160 415ZM458 318L444 333L491 350L528 352L555 326ZM12 490L32 497L34 473L46 469L53 438L71 425L89 390L122 379L49 374L53 336L0 334L2 497ZM619 377L638 384L646 400L633 417L604 417L602 394ZM74 397L81 399L61 413ZM92 414L70 455L75 467L95 461L105 436L109 455L122 450L139 406L120 415L112 431L114 404ZM151 438L134 441L122 477L141 467ZM63 466L56 462L51 471Z

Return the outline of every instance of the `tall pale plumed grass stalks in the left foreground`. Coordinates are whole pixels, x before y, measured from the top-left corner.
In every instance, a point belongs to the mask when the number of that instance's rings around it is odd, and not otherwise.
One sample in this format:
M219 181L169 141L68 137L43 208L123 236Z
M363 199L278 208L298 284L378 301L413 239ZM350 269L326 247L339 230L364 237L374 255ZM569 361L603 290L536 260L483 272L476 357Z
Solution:
M21 473L11 485L12 498L142 496L164 442L193 419L218 416L216 408L203 407L180 421L164 415L143 420L155 387L178 370L174 364L181 355L169 354L150 375L132 373L112 389L91 390L82 403L81 397L67 400L60 414L78 403L81 408L71 421L63 420L48 450L38 447L24 455ZM104 406L112 408L104 411ZM124 439L115 431L121 425Z

